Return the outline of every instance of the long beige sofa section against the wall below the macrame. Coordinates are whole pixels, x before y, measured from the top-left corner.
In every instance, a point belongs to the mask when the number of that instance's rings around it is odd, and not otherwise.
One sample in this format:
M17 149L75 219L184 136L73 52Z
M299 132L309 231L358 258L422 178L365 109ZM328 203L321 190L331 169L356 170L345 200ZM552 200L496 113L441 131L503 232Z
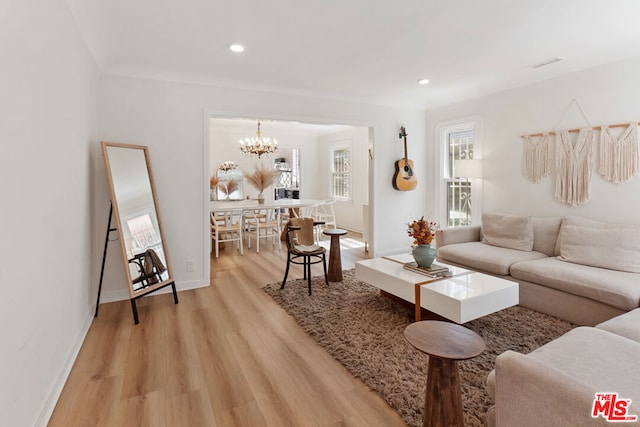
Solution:
M438 260L516 280L520 305L577 325L640 306L640 225L486 213L436 244Z

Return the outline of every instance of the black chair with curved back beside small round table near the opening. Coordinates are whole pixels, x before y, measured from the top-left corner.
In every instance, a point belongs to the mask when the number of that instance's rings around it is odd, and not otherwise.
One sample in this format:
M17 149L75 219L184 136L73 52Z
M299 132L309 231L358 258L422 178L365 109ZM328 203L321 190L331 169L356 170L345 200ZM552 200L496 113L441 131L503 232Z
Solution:
M291 264L302 265L304 279L307 279L309 295L311 295L311 265L322 263L324 281L329 286L327 277L326 249L316 245L313 238L313 230L319 225L313 218L291 218L287 223L287 267L280 289L284 289L289 276Z

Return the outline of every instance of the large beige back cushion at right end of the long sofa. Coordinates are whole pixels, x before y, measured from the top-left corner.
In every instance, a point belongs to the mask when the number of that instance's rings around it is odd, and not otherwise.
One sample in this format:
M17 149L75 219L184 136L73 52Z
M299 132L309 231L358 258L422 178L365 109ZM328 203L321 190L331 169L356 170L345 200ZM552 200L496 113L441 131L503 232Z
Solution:
M562 261L640 273L640 229L565 225L560 235Z

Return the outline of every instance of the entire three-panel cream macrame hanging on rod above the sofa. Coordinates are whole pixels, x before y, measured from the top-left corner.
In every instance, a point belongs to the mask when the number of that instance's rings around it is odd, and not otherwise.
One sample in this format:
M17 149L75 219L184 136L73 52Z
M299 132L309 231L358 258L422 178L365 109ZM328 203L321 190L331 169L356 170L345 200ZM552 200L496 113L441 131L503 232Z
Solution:
M559 202L578 206L590 197L594 131L600 131L598 173L607 181L622 184L640 174L640 123L593 126L574 98L562 113L556 129L560 129L567 111L573 105L580 110L589 127L522 135L523 174L533 183L540 182L551 174L550 156L555 153L555 198ZM616 138L611 128L618 127L626 129ZM572 139L572 133L577 133L575 140ZM539 139L536 141L537 137ZM552 137L555 137L555 150L551 148Z

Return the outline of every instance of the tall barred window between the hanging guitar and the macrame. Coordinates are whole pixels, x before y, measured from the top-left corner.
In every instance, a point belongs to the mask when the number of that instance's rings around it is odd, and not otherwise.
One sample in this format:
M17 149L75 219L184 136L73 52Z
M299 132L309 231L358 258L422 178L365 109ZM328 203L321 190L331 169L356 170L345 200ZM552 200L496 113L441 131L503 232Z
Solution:
M477 122L440 127L439 135L444 165L442 169L444 193L439 198L445 209L442 223L447 227L470 225L474 217L472 203L474 188L472 181L468 178L456 176L455 161L473 160L474 149L477 148L474 147L478 135Z

